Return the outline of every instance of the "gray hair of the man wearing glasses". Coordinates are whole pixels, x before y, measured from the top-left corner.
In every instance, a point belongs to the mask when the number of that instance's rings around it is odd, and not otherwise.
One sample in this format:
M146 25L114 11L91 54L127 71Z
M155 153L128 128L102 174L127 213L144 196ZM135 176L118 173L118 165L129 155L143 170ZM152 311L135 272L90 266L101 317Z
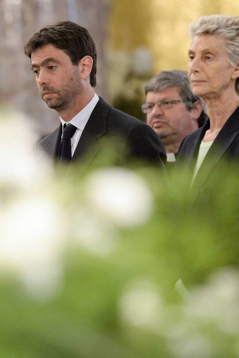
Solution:
M161 92L169 87L178 87L178 92L183 101L188 101L185 103L188 111L191 111L192 108L194 108L193 103L196 101L200 101L203 104L202 113L197 120L199 127L201 127L208 117L206 113L206 103L199 96L193 95L186 71L173 69L171 71L157 73L146 84L145 95L147 95L148 92Z

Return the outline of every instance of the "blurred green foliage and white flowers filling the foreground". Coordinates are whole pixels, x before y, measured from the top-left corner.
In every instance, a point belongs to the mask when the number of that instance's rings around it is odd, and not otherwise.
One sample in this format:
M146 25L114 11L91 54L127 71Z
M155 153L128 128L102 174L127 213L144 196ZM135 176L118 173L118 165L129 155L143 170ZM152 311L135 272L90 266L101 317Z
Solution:
M0 357L239 357L235 173L190 215L177 173L57 178L23 115L0 127Z

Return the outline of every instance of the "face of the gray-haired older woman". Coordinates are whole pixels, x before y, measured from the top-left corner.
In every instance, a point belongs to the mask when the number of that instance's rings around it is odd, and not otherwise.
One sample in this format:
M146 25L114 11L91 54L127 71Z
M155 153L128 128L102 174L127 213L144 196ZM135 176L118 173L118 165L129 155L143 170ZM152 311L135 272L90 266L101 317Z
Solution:
M188 77L193 93L204 99L220 98L235 90L239 70L229 62L223 35L196 35L188 50Z

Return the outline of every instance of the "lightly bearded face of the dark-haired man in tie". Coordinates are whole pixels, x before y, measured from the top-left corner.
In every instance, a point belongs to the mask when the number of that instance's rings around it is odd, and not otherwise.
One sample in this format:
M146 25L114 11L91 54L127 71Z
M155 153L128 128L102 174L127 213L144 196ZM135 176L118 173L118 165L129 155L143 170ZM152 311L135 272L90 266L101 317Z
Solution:
M52 44L35 50L31 56L40 95L57 111L70 109L81 95L81 76L78 66L61 49Z

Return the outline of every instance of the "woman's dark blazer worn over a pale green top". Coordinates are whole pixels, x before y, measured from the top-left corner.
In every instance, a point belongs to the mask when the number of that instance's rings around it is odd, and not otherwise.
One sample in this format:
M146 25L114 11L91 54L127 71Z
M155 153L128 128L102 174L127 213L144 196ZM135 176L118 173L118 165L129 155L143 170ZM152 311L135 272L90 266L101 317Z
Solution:
M210 128L210 119L195 132L186 136L180 145L176 169L190 173L191 179L195 168L200 143L206 130ZM209 189L224 169L235 168L239 163L239 107L228 118L216 139L212 143L192 184L191 193L197 196Z

